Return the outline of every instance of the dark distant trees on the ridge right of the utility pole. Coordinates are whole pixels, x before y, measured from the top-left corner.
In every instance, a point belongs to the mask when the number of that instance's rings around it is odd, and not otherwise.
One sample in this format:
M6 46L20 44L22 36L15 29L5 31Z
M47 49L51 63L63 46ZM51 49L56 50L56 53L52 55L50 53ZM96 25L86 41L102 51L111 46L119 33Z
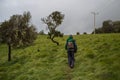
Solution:
M102 27L95 29L95 33L120 33L120 21L106 20Z

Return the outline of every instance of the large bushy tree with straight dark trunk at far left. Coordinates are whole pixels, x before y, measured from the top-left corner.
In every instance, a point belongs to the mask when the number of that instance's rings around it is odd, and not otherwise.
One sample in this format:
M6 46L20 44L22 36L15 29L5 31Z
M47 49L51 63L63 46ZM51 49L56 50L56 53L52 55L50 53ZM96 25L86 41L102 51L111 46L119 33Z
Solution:
M13 15L0 25L2 40L8 45L8 61L11 60L11 47L21 47L32 44L36 39L36 29L30 24L30 12L23 15Z

